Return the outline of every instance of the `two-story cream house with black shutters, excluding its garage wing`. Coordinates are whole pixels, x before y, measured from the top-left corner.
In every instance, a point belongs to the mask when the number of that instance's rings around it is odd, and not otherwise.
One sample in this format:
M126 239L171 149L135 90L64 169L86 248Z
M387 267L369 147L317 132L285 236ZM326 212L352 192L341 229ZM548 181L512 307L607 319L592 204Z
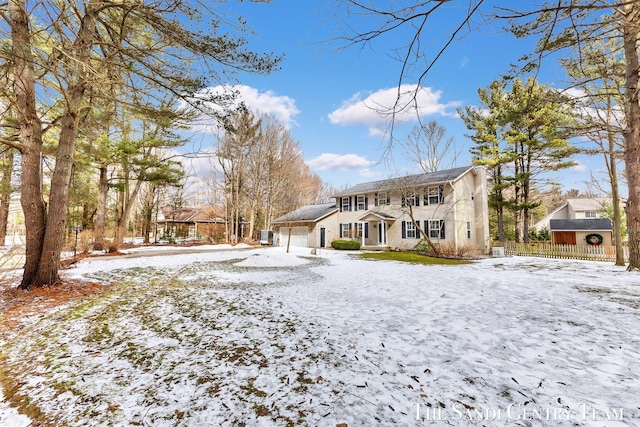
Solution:
M487 176L468 166L366 182L335 194L336 238L360 240L363 247L411 249L422 236L454 248L489 250Z

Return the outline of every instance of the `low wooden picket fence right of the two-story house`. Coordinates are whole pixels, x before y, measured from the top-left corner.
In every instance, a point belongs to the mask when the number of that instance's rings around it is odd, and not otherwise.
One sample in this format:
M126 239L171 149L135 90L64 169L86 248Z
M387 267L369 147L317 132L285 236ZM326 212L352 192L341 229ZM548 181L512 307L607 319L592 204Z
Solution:
M498 245L495 245L498 246ZM505 255L535 256L542 258L583 259L591 261L616 260L615 246L552 245L551 243L504 243ZM624 248L624 259L629 259L629 248Z

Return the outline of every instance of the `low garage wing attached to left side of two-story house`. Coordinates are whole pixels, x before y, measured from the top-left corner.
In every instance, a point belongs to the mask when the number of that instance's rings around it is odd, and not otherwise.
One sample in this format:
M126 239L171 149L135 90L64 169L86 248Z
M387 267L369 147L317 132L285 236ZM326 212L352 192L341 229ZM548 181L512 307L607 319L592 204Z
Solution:
M331 247L337 239L335 203L308 205L271 221L276 246Z

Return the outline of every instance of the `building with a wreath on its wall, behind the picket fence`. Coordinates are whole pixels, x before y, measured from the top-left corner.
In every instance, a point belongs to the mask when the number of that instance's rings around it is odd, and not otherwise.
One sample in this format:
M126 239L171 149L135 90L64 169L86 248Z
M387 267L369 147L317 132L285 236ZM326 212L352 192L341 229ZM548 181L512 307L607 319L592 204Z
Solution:
M613 245L611 220L600 214L608 202L606 198L567 199L533 227L537 231L549 230L551 243L556 245L586 246L596 240L599 245Z

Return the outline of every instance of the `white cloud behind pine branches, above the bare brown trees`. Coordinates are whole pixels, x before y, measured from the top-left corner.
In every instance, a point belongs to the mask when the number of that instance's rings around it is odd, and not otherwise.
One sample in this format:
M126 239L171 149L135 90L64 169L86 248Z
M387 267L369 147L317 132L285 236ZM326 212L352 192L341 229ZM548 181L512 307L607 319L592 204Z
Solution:
M236 108L242 102L254 113L270 114L276 117L287 128L296 124L294 117L300 113L300 110L296 107L295 100L285 95L278 95L271 90L260 92L258 89L246 85L215 86L204 89L198 93L198 97L206 99L210 96L225 97L231 94L235 94L235 99L227 109ZM224 108L215 102L204 102L204 105L213 112L221 113L224 111ZM211 122L210 119L203 118L202 120ZM214 133L217 126L216 124L204 125L201 122L197 128L201 132Z

